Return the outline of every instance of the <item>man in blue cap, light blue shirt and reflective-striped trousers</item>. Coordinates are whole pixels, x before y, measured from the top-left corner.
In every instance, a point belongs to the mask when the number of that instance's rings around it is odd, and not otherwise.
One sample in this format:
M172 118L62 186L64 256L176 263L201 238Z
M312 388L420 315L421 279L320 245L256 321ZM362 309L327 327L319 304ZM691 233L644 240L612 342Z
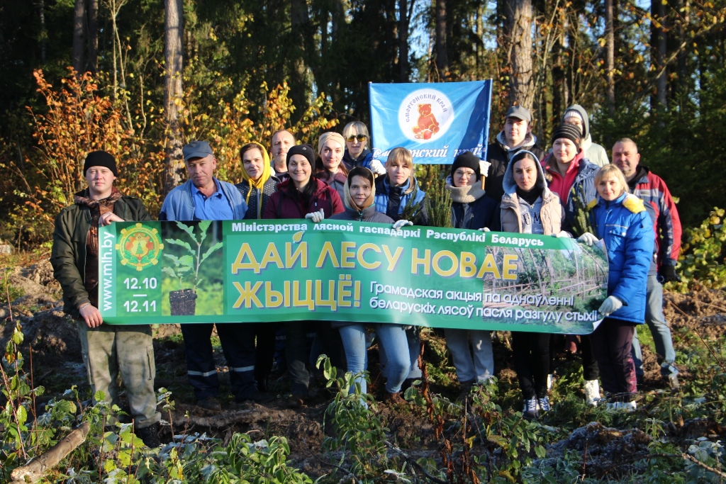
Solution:
M184 165L189 180L177 186L164 199L159 220L242 220L247 204L233 184L214 177L217 160L207 141L184 146ZM214 323L181 324L187 352L187 376L194 387L197 406L221 410L219 378L212 353ZM238 403L265 402L269 395L257 390L255 372L255 332L251 324L217 324L217 334L229 367L229 383Z

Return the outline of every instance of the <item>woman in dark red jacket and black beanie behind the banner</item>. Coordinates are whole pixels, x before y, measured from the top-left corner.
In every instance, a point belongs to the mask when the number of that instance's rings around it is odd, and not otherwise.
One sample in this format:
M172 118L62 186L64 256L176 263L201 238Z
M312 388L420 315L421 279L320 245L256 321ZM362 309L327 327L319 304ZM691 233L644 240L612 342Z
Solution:
M311 218L314 223L345 210L340 195L331 186L312 176L315 152L309 144L298 144L287 151L287 173L289 178L277 185L277 192L269 198L263 218ZM335 336L330 323L319 325L319 336L325 344L326 336ZM290 373L292 395L287 406L302 406L308 396L310 374L306 367L309 360L307 332L311 324L301 321L285 323L285 358ZM338 351L342 344L338 342ZM328 353L335 356L335 352ZM342 361L333 364L342 366Z

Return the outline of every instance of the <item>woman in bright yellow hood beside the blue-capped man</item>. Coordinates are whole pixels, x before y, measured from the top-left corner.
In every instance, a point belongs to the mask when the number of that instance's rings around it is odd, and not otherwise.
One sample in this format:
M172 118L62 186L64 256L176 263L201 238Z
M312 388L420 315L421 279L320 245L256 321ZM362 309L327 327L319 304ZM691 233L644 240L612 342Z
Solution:
M277 190L280 179L272 174L267 150L256 141L240 149L240 158L242 181L236 186L247 202L245 219L258 220L262 218L267 200Z

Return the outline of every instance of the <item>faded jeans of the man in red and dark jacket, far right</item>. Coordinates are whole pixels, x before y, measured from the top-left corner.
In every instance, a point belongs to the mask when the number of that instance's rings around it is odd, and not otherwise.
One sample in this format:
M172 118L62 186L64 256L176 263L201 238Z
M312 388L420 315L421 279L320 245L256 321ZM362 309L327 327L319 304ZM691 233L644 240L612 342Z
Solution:
M678 369L673 364L676 360L676 351L673 349L671 329L663 314L663 286L655 275L648 274L648 288L645 305L645 323L653 335L653 343L656 344L658 361L661 362L661 374L667 377L669 374L678 374ZM635 362L635 374L643 377L643 351L640 350L640 341L637 338L637 331L633 335L632 357Z

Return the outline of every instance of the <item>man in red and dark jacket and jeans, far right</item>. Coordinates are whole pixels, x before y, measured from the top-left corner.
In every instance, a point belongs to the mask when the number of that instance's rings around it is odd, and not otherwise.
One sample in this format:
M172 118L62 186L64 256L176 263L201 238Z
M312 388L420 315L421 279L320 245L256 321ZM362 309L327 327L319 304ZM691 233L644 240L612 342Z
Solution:
M648 272L648 287L645 306L645 322L653 334L658 359L661 361L661 376L672 389L680 387L678 369L675 366L676 352L673 348L671 329L663 314L663 282L680 281L675 268L680 253L681 226L678 210L666 183L648 167L640 165L640 154L635 141L623 138L613 146L613 165L623 172L630 191L645 202L645 210L653 220L656 239L653 263ZM643 378L643 353L637 333L632 344L635 372Z

